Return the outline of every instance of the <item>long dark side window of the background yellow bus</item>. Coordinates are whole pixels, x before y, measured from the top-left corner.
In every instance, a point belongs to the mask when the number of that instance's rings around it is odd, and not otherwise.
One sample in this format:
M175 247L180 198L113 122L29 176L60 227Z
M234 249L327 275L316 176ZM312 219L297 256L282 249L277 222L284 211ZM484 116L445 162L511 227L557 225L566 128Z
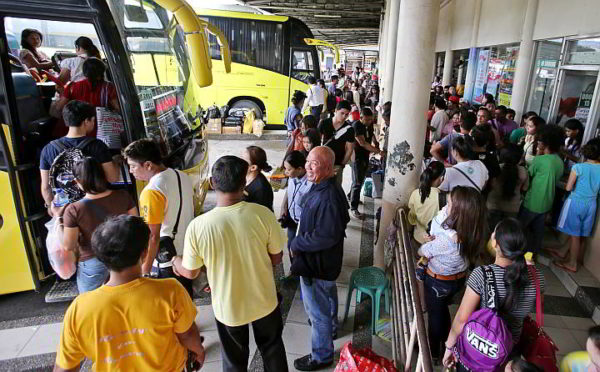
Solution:
M215 25L229 41L231 60L283 73L283 24L249 19L201 17ZM208 35L210 56L221 59L215 35Z

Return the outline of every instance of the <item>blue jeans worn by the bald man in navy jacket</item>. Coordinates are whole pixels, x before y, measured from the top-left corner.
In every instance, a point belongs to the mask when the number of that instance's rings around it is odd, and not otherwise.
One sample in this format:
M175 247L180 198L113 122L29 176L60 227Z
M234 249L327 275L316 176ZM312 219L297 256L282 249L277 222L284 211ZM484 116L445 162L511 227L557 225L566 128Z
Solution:
M304 310L312 324L312 359L333 360L333 333L337 332L338 298L335 281L300 278Z

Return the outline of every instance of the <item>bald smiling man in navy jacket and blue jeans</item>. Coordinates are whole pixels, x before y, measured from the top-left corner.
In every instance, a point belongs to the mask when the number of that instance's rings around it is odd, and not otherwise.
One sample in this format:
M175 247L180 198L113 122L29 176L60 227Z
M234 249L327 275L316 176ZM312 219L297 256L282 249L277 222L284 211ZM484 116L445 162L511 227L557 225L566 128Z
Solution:
M334 152L314 148L306 159L306 179L314 185L303 197L298 232L290 244L291 272L300 276L304 310L311 323L310 354L294 361L300 371L315 371L333 363L337 336L336 279L342 271L348 201L336 184Z

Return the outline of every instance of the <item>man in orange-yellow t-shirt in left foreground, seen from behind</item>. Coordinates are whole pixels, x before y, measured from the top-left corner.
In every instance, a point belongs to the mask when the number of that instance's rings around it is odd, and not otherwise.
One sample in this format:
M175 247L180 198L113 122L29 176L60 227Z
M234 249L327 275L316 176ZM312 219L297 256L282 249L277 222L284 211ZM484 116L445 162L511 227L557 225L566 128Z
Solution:
M188 350L204 363L196 306L183 286L175 279L142 278L149 236L144 220L128 215L96 229L92 249L110 279L67 309L55 372L79 371L84 358L97 372L181 372Z

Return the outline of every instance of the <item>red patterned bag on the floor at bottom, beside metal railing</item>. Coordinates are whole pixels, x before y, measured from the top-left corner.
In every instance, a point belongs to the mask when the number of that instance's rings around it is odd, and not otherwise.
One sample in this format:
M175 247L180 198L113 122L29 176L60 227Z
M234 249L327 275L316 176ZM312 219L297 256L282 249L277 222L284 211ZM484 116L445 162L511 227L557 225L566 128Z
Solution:
M340 351L340 361L334 372L398 372L394 363L371 350L354 350L352 342L347 342Z

